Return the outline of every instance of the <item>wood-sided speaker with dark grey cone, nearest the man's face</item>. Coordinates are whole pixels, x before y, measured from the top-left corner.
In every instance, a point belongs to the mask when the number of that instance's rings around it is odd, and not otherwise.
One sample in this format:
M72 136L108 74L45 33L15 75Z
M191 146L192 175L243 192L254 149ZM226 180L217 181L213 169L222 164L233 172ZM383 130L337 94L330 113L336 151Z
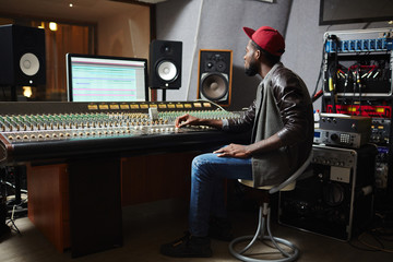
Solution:
M230 105L233 74L231 50L200 50L198 98L222 106Z

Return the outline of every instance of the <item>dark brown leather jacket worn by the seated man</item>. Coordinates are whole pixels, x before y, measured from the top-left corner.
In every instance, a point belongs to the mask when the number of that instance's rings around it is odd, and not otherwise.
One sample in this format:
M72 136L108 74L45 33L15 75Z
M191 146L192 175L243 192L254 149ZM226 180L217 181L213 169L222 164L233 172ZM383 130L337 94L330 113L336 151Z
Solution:
M276 179L266 181L266 184L272 184L271 182L277 183L290 176L309 156L313 141L313 109L306 84L293 71L278 63L267 75L264 87L273 88L273 96L283 122L283 128L277 134L282 150L288 155L289 166L289 174L279 174ZM234 132L252 130L251 143L261 140L261 135L255 133L258 132L257 122L261 121L255 117L258 104L261 103L254 100L242 118L230 119L227 130Z

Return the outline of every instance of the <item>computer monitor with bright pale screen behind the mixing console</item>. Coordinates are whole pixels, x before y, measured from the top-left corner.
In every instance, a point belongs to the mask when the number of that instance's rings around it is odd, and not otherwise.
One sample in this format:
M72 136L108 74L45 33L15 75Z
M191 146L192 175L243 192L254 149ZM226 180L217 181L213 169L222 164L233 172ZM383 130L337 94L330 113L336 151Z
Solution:
M67 53L69 102L148 100L147 59Z

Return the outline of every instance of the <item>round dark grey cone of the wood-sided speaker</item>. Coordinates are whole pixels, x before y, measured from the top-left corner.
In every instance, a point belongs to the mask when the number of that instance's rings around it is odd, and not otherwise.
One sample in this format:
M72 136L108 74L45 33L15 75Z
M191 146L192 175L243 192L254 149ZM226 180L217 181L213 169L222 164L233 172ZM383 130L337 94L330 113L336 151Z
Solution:
M210 100L218 100L227 95L228 80L223 74L205 74L201 82L202 95Z

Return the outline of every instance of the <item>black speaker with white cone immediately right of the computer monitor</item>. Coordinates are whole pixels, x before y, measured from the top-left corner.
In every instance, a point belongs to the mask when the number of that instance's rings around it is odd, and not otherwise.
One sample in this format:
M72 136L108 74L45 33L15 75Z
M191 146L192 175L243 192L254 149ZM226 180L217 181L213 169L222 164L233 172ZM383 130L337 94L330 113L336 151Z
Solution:
M181 87L182 43L153 40L150 45L150 87Z

